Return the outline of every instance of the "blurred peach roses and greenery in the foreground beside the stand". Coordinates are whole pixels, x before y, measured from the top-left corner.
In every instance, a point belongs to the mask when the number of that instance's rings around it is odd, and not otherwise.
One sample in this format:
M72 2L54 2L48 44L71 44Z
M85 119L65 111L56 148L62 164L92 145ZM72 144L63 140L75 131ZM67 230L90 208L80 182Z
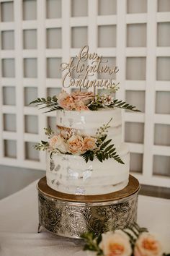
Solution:
M161 242L146 228L140 228L137 223L127 229L108 231L96 236L89 231L81 236L84 250L88 255L102 256L170 256L163 252Z

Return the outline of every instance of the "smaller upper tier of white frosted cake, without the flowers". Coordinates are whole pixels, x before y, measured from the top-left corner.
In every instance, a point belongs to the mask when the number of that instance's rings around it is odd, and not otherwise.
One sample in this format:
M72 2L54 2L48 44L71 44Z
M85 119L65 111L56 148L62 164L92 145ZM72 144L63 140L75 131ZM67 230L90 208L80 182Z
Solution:
M81 134L95 136L97 129L103 124L109 123L107 134L108 139L112 139L116 148L122 142L122 115L120 108L100 109L98 111L57 111L56 124L59 127L79 129Z

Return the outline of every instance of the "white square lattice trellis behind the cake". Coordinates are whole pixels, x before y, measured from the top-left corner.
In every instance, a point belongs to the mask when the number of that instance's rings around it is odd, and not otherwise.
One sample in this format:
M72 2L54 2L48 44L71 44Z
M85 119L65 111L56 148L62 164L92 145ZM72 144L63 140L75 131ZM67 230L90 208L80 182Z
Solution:
M71 29L80 27L87 29L86 42L89 44L90 51L97 51L107 58L116 58L116 64L120 69L117 74L117 82L121 82L120 90L117 93L117 98L125 99L126 91L144 91L145 92L145 111L143 113L124 112L123 131L125 132L125 124L140 123L144 124L144 139L143 142L130 142L130 152L143 155L143 171L140 174L135 174L142 184L157 185L170 187L170 176L167 172L166 176L153 175L153 155L162 155L170 158L170 146L154 144L154 126L155 124L170 125L169 114L156 114L156 93L170 93L169 80L156 80L158 57L170 57L170 44L167 46L157 46L157 24L170 22L170 12L158 12L158 4L160 1L148 0L146 13L128 13L127 6L130 1L117 1L117 9L113 14L98 14L98 6L102 1L89 0L84 1L87 5L87 14L84 17L71 17L71 8L76 1L71 0L55 0L56 13L61 17L48 17L48 9L50 0L32 0L37 6L37 17L32 20L24 19L24 4L30 4L30 0L1 0L1 41L2 33L6 31L14 31L14 48L1 48L1 87L0 87L0 164L21 166L29 168L45 169L45 154L40 153L39 158L27 159L27 142L37 142L44 138L43 127L46 127L48 117L53 117L55 114L40 114L37 108L25 106L24 90L25 88L37 88L38 97L46 97L49 88L61 88L61 77L53 78L47 75L47 69L50 65L48 59L57 58L61 61L68 61L70 56L76 56L79 48L72 47L73 38ZM109 4L109 0L105 3ZM115 1L114 1L115 2ZM143 1L146 2L146 1ZM164 2L164 1L163 1ZM3 12L5 12L4 4L10 4L13 9L14 19L12 16L6 20ZM53 0L54 3L54 0ZM82 3L82 1L81 1ZM138 1L137 1L138 4ZM53 7L53 6L52 6ZM27 7L26 7L27 8ZM61 9L60 9L61 8ZM83 7L82 7L83 8ZM170 8L169 8L170 11ZM31 10L30 10L31 12ZM50 12L50 11L49 11ZM36 13L36 12L35 12ZM146 46L128 47L127 46L127 25L146 25ZM169 35L170 35L170 23ZM98 47L99 41L98 27L99 26L116 26L116 47ZM47 30L52 28L61 28L61 48L47 48ZM23 35L24 31L35 30L37 33L37 48L24 48ZM81 36L81 35L80 35ZM138 36L138 35L134 35ZM105 38L105 41L109 40ZM85 43L84 43L85 44ZM127 77L128 58L146 58L146 79L129 80ZM3 74L4 60L14 59L14 77L8 77ZM36 75L29 77L24 72L27 60L35 63L37 61ZM60 60L59 60L60 61ZM27 65L26 65L27 66ZM35 63L36 66L36 63ZM4 104L3 90L13 86L16 92L16 105L9 106ZM33 100L33 99L32 99ZM4 129L4 114L16 115L16 130L9 131ZM25 132L25 117L38 116L37 133ZM9 157L6 153L6 144L4 141L13 141L16 143L16 153L13 157ZM12 144L13 146L15 144ZM170 172L170 161L167 166ZM160 172L161 174L161 172Z

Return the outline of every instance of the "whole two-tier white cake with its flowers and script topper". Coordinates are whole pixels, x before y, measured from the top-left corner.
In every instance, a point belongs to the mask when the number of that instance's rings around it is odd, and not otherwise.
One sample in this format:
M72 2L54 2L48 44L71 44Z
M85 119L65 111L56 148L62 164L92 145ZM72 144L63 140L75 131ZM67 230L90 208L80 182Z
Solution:
M63 88L70 93L61 90L53 97L32 101L56 113L55 130L45 128L49 140L35 148L47 150L47 184L58 192L103 195L128 184L130 153L122 142L121 111L138 109L115 98L119 82L112 77L118 69L102 58L84 46L76 57L61 64ZM97 80L97 74L108 79Z

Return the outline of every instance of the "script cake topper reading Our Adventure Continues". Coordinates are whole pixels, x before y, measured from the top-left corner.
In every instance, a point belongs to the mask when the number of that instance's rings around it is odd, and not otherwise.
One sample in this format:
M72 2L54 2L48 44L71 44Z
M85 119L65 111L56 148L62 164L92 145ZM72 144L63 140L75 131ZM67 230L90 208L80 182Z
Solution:
M95 79L94 74L116 74L119 71L117 66L111 67L108 64L108 60L104 60L103 56L99 56L97 53L89 53L89 46L84 46L79 51L76 57L71 57L68 63L61 63L61 72L65 72L63 75L63 88L79 87L81 88L96 88L112 89L119 85L115 81L110 79ZM78 78L73 77L73 72L78 74Z

